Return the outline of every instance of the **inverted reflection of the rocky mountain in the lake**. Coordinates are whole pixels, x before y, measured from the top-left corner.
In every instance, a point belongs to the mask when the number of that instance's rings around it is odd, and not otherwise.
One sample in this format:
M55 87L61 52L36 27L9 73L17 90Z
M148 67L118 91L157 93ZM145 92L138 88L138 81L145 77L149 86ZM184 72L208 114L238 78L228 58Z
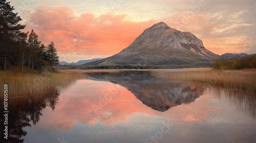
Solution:
M143 104L157 111L196 100L204 92L199 83L159 79L150 71L90 73L89 76L119 84L130 90Z

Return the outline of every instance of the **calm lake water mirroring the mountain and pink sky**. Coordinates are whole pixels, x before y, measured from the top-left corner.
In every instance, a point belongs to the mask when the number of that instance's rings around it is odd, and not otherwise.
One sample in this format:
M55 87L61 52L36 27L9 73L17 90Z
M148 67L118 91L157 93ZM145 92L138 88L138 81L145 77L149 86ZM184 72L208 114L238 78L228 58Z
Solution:
M238 89L169 81L161 72L87 73L88 79L45 99L20 101L10 111L13 140L255 142L255 98Z

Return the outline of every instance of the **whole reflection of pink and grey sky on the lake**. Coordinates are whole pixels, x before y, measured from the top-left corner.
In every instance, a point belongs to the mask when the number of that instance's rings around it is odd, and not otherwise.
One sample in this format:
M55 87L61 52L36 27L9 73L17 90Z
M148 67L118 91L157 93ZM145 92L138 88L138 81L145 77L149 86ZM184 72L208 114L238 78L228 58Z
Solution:
M108 93L109 88L118 91ZM234 105L233 101L246 100L234 92L211 86L206 86L204 91L194 102L159 112L143 105L131 91L118 84L102 79L78 80L60 94L54 112L50 108L42 112L45 118L42 116L35 128L28 128L28 136L32 134L36 139L65 136L72 142L84 142L84 138L87 142L143 142L161 131L163 121L170 121L173 126L159 142L253 142L256 139L255 118L234 109L240 105ZM94 111L92 106L99 105L105 94L112 94L112 100ZM42 129L47 132L38 133ZM32 142L30 137L25 140Z

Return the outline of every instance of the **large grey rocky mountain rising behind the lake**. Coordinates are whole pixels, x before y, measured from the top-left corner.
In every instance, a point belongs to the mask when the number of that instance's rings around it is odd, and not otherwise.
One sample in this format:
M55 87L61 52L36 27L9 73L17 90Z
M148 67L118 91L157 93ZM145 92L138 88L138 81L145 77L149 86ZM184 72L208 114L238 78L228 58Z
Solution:
M205 49L202 40L189 32L172 29L164 22L159 22L135 39L120 53L82 65L80 68L175 68L206 67L213 59L219 58Z

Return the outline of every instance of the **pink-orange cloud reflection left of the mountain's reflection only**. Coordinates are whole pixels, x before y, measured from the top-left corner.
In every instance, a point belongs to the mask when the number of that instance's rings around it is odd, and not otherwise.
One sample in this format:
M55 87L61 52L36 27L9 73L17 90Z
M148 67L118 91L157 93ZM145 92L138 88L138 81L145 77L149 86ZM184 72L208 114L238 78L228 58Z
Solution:
M112 100L101 105L100 101L104 98L102 95L110 94L109 88L117 88L119 91L116 94L112 93ZM94 106L97 106L97 110L93 109ZM155 114L153 110L141 104L131 91L122 86L110 82L78 80L69 91L61 94L58 106L49 115L51 120L45 124L61 130L69 130L77 122L84 124L123 122L134 112Z

